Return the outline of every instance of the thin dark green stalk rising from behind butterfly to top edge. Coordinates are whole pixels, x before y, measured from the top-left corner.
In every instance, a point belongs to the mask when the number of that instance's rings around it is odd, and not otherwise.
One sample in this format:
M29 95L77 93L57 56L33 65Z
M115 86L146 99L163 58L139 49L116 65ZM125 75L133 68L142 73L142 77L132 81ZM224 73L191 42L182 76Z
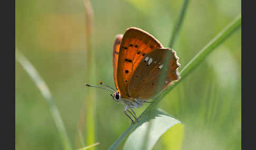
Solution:
M178 22L176 23L176 25L174 26L173 31L172 31L172 37L171 37L171 41L170 41L170 44L169 44L170 48L173 48L174 43L176 41L176 38L178 37L178 33L179 33L180 28L182 26L184 16L185 16L185 13L186 13L186 8L188 8L189 2L190 2L189 0L184 0L184 2L183 2L181 13L180 13L180 16L178 18Z

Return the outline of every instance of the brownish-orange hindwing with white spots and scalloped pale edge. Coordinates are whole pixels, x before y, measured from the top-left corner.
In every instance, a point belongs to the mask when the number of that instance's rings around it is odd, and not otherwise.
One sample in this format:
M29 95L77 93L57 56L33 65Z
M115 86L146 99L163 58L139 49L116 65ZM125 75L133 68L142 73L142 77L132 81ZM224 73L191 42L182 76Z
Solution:
M166 60L166 61L165 61ZM157 48L143 57L133 73L128 91L132 98L147 100L180 79L180 63L170 48Z

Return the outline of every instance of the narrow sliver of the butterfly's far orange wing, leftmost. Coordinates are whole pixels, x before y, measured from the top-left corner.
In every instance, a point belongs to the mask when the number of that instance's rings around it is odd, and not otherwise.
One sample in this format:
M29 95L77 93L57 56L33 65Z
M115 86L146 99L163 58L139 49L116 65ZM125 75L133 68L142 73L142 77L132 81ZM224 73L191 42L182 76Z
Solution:
M117 35L115 36L115 41L113 45L113 75L114 75L114 81L115 81L115 87L118 89L117 85L117 62L119 57L119 49L122 42L123 35Z

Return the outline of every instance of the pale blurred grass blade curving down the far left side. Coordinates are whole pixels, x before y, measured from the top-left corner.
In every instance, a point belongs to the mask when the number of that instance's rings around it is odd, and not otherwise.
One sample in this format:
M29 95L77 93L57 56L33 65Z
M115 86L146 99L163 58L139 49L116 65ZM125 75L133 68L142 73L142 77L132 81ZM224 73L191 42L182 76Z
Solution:
M48 89L47 84L44 82L44 80L40 77L37 70L33 67L32 63L29 62L29 60L23 56L19 50L15 49L15 58L16 60L21 63L24 70L28 73L29 77L32 78L34 83L37 85L37 88L41 91L43 97L48 102L48 105L50 106L50 111L53 116L53 120L55 121L56 127L58 129L58 132L60 133L62 144L64 149L70 150L72 149L70 140L67 136L67 132L64 126L64 123L61 119L60 112L58 112L57 106L55 105L51 91Z

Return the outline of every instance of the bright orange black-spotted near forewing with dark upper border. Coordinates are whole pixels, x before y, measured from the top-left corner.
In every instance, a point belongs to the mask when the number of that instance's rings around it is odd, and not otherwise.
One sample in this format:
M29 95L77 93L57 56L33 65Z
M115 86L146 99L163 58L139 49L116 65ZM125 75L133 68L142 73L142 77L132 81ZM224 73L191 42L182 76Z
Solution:
M127 87L142 58L147 53L161 47L163 47L161 43L146 31L135 27L126 29L117 64L117 83L122 98L131 97Z

